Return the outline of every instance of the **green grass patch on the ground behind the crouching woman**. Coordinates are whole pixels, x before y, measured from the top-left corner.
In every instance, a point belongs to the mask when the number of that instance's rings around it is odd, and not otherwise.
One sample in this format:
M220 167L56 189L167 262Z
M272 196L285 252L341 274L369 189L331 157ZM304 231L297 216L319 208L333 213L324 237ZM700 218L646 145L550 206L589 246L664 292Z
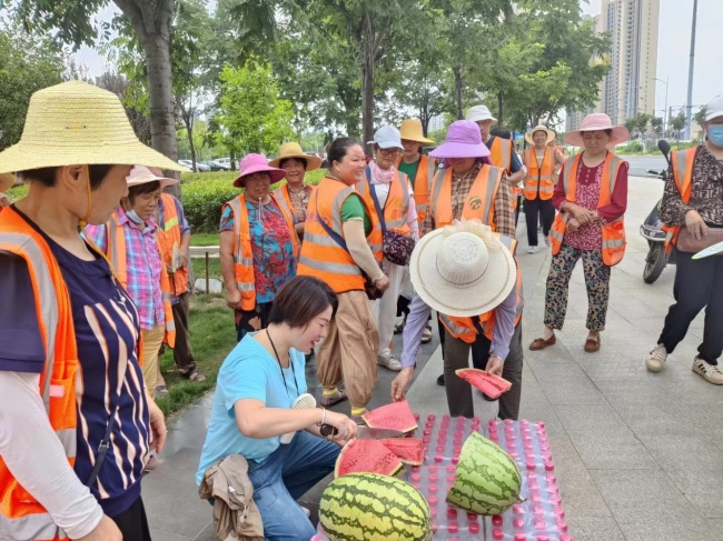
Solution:
M236 345L234 312L221 297L191 297L190 334L197 368L206 374L201 383L185 380L174 364L174 352L167 350L160 359L169 393L157 400L166 415L187 407L216 384L216 377L226 355Z

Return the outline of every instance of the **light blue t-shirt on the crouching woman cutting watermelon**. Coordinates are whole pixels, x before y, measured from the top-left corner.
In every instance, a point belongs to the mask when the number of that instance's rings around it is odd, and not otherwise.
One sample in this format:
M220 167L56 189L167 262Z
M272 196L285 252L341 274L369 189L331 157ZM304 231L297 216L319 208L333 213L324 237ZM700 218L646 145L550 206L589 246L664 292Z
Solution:
M244 435L236 424L236 401L256 399L267 408L288 409L298 395L306 392L304 353L291 349L290 365L283 370L281 375L276 358L256 341L254 334L244 337L218 372L211 419L196 473L198 484L209 465L229 454L242 454L247 460L264 462L280 445L278 435L264 439Z

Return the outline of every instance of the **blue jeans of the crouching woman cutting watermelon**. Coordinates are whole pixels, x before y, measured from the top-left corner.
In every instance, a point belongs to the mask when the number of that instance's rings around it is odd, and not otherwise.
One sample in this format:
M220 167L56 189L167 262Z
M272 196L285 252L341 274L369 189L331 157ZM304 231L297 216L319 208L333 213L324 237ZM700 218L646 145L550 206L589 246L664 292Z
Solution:
M290 443L280 445L256 469L251 467L254 501L268 541L311 539L314 525L296 500L334 471L339 451L336 443L300 430Z

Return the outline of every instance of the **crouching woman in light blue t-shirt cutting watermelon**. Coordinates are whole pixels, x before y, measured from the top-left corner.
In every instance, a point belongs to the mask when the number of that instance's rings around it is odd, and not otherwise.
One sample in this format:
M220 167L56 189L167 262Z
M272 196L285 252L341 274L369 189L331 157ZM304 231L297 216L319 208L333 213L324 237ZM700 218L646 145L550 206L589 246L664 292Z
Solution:
M356 424L341 413L291 409L307 392L304 354L326 337L336 307L326 283L293 278L277 292L268 327L245 335L218 374L196 482L215 462L244 455L267 540L314 535L296 500L334 471L340 447L356 434ZM321 423L337 429L330 441L319 433Z

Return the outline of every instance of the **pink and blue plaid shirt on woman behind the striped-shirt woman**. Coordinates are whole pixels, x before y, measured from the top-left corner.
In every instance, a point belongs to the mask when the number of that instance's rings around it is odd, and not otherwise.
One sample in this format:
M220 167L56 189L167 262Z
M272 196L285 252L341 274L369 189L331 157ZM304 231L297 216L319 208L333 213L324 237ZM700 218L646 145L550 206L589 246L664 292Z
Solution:
M146 222L141 231L128 219L122 207L118 207L118 224L123 226L126 237L126 269L128 285L126 290L132 299L141 329L155 329L166 322L164 297L160 290L160 272L164 266L156 241L156 222ZM87 226L86 234L105 253L108 251L106 226Z

